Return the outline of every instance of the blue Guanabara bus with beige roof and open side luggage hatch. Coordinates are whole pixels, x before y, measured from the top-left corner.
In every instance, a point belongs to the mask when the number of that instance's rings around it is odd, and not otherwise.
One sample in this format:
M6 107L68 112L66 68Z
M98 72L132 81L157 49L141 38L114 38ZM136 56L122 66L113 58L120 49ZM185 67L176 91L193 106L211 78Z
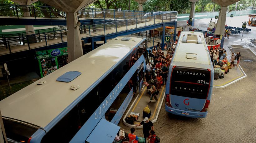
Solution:
M8 142L112 143L142 88L146 48L117 37L0 101Z

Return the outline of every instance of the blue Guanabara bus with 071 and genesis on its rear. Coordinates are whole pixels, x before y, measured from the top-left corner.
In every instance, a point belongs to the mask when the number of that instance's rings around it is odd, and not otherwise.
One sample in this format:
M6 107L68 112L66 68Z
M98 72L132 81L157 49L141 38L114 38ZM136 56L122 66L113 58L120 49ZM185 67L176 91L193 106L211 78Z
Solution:
M201 32L180 34L166 83L165 111L205 118L212 96L214 69Z

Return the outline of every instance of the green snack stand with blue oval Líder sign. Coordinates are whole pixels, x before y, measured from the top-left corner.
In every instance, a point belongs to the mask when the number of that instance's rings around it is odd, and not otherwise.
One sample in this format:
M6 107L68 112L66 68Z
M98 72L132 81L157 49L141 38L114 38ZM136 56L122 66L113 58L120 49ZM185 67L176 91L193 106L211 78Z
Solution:
M41 78L68 63L67 48L36 51Z

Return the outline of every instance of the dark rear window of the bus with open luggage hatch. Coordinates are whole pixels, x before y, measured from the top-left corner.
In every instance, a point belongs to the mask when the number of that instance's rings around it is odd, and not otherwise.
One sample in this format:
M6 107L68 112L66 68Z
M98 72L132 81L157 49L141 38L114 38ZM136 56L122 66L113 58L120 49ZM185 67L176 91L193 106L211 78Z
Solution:
M25 125L21 122L15 122L3 119L4 129L7 138L17 142L27 142L28 139L38 130L37 127Z

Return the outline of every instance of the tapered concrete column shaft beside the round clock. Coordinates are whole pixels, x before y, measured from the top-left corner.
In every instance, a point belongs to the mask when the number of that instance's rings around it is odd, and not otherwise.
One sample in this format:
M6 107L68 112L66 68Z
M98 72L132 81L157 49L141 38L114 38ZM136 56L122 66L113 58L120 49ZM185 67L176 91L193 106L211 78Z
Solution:
M222 35L222 37L223 37L222 39L224 39L224 33L225 33L226 12L227 12L227 7L220 7L219 17L218 17L218 21L216 24L216 30L214 32L214 34ZM220 46L223 47L223 44L224 43L221 41Z

